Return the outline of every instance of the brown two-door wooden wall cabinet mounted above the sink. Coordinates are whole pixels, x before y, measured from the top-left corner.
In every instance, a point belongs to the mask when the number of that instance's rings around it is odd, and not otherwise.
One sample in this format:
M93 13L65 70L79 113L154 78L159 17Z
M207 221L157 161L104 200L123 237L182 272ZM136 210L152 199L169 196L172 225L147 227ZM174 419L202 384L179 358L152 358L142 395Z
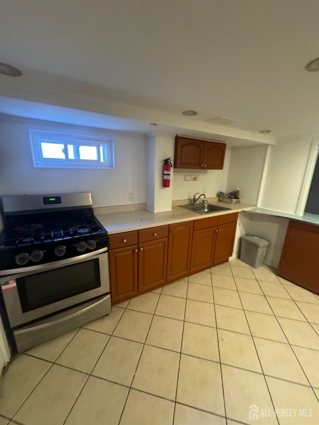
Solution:
M176 136L174 167L221 170L224 167L225 150L225 143Z

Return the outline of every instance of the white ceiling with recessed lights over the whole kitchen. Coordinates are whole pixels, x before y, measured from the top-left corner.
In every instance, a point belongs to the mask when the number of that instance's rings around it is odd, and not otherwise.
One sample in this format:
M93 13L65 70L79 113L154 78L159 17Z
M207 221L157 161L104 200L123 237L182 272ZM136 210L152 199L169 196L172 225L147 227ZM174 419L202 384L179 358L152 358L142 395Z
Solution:
M0 95L207 133L226 116L242 139L319 135L318 19L318 0L2 0L0 61L23 75L0 75Z

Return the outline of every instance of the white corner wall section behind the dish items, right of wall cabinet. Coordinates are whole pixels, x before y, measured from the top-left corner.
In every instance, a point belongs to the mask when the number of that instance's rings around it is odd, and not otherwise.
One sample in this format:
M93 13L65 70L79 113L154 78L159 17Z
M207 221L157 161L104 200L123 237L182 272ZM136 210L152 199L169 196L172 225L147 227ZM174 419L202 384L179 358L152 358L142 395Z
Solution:
M232 148L227 192L240 190L242 202L256 205L267 146Z

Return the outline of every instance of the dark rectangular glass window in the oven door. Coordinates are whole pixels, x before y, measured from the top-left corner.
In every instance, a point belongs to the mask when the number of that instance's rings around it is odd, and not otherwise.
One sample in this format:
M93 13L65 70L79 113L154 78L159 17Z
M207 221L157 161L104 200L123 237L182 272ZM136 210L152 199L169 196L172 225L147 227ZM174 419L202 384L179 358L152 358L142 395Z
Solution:
M23 312L101 286L99 260L89 260L16 279Z

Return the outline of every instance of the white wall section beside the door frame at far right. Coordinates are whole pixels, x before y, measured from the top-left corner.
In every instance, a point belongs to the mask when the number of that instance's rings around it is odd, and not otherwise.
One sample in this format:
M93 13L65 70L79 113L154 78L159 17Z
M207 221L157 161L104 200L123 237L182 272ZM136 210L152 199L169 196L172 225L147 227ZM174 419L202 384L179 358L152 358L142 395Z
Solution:
M296 213L312 140L279 139L271 146L261 207Z

